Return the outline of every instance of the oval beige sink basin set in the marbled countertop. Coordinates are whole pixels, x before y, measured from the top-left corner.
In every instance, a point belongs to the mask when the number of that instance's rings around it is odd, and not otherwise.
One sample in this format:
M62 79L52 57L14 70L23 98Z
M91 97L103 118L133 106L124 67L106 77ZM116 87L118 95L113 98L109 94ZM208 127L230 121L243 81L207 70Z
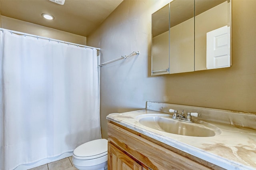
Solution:
M182 122L167 114L144 114L137 116L136 120L146 127L172 134L198 137L221 134L221 130L210 123L200 120L194 120L194 123Z

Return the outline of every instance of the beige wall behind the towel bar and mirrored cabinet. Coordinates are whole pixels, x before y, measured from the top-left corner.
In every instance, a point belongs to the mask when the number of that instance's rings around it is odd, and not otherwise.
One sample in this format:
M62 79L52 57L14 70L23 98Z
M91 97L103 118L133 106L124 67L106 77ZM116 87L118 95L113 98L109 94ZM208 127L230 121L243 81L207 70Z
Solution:
M104 138L109 113L144 109L147 100L256 113L256 1L232 0L232 67L152 77L151 14L160 2L124 0L87 37L102 62L140 51L101 68Z

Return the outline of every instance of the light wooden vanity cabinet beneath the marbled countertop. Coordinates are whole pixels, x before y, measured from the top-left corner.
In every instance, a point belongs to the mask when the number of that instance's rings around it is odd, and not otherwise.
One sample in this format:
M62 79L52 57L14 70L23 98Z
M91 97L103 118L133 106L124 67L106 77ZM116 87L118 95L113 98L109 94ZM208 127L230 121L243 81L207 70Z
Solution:
M222 168L108 121L108 169L220 170Z

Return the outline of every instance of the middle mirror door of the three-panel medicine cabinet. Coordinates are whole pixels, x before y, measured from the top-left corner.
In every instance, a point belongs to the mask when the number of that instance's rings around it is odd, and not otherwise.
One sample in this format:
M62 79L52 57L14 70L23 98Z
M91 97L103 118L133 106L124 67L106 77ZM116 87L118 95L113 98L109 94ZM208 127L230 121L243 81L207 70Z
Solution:
M170 2L170 73L194 71L194 0Z

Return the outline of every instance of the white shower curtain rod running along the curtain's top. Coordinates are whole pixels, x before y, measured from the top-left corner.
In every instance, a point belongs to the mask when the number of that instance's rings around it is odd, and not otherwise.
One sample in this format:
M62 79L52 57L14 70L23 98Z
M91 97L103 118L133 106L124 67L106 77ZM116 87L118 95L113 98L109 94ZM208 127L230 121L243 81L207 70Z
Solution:
M41 36L36 36L36 35L33 35L33 34L26 34L26 33L24 33L24 32L18 32L18 31L13 31L13 30L7 30L7 29L5 29L5 28L0 28L0 31L4 32L4 30L6 30L6 31L8 31L8 32L10 32L10 33L14 33L14 34L21 34L21 35L24 35L24 36L30 36L30 37L40 38L40 39L44 39L44 40L49 40L49 41L60 42L60 43L66 43L66 44L76 45L76 46L79 46L79 47L86 47L86 48L91 48L91 49L100 50L100 48L90 47L90 46L82 45L82 44L78 44L78 43L65 42L65 41L62 41L62 40L56 40L56 39L52 39L52 38L41 37Z

